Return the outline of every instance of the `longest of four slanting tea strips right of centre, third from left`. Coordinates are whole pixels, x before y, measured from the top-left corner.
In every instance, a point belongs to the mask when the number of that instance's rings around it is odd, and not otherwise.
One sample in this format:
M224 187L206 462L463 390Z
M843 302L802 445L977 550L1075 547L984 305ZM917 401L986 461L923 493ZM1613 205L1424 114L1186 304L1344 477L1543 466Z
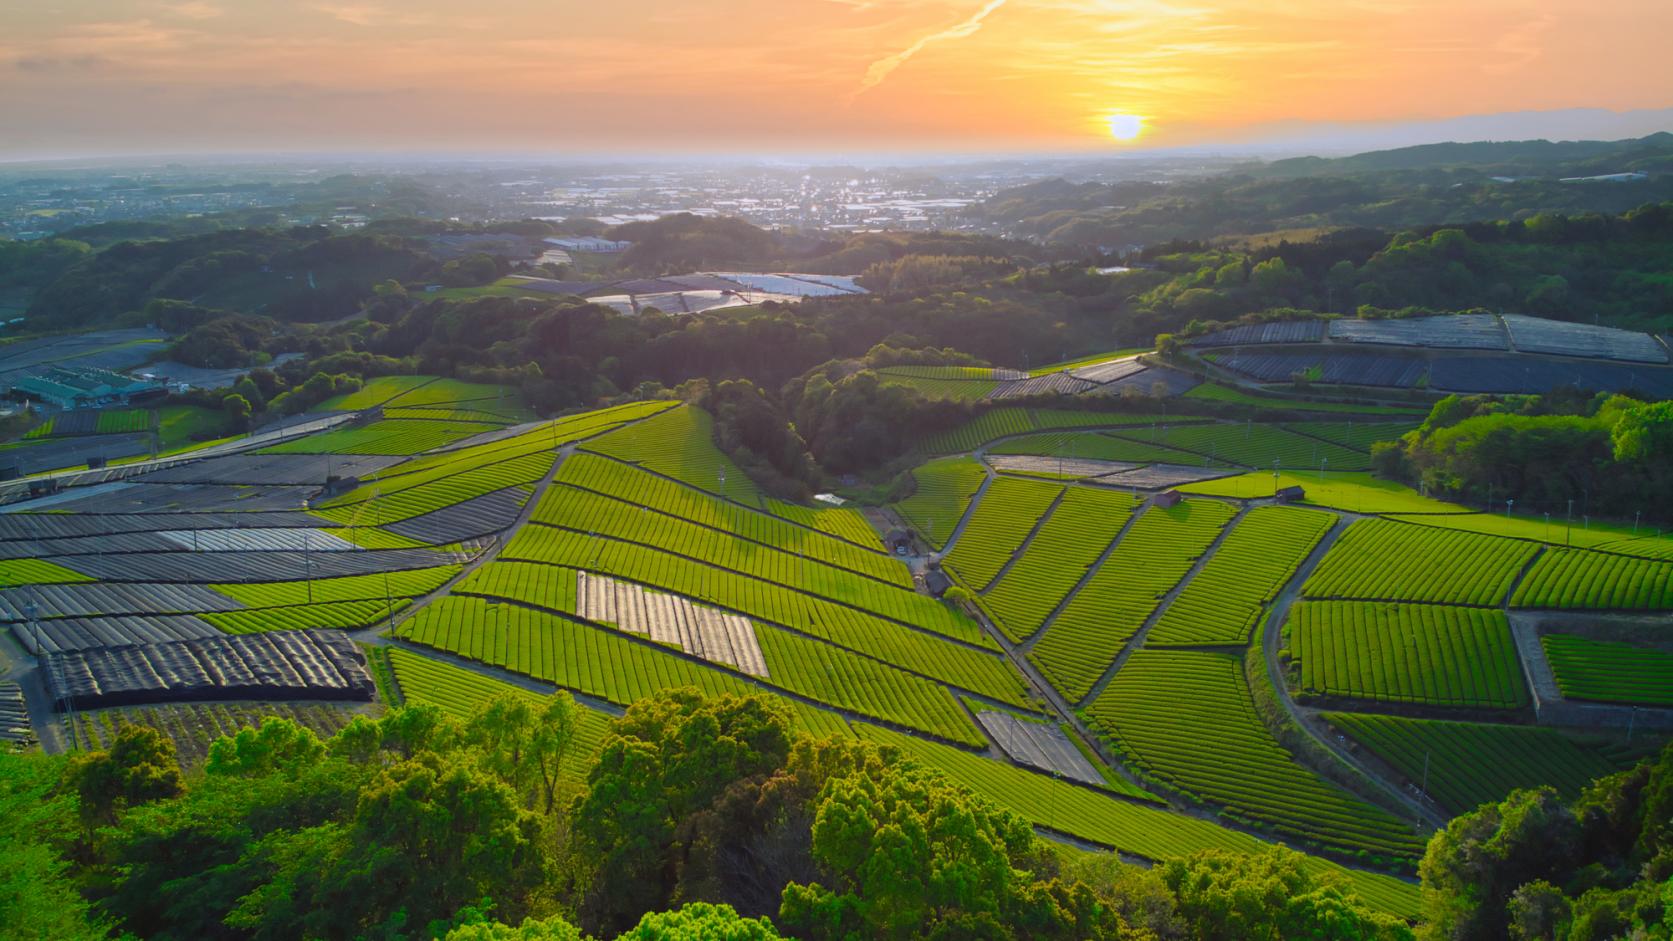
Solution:
M1029 660L1069 702L1092 692L1161 598L1208 551L1236 511L1218 501L1151 506L1069 599Z

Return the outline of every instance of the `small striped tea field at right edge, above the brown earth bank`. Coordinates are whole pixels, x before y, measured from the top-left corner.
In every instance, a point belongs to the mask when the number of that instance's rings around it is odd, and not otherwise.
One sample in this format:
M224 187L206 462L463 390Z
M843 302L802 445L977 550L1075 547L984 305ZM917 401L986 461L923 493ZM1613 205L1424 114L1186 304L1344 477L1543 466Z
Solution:
M1581 549L1546 549L1519 586L1514 608L1673 608L1673 561L1631 559Z

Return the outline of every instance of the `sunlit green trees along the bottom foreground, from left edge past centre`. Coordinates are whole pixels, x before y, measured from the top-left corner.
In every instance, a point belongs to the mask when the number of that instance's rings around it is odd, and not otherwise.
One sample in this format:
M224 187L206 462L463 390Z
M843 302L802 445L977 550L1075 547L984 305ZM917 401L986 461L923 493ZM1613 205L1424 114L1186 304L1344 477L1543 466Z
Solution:
M576 703L269 718L181 772L172 743L0 757L8 938L79 941L1409 939L1273 847L1154 869L1016 814L771 697L669 690L584 777Z

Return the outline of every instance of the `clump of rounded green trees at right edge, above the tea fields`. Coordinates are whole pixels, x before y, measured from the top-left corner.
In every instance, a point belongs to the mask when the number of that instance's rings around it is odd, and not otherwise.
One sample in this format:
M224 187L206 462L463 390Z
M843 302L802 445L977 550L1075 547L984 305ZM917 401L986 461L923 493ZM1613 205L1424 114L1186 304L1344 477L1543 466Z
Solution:
M1379 474L1466 502L1522 512L1673 522L1673 402L1626 395L1449 395L1399 442L1372 449Z

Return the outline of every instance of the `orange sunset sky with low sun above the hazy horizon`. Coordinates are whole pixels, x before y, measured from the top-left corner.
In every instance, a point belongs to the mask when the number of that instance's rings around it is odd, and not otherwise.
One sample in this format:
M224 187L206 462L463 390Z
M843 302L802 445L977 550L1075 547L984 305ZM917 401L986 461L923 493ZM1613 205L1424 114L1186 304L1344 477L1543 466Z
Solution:
M1670 35L1666 0L0 0L0 154L1161 147L1668 107Z

